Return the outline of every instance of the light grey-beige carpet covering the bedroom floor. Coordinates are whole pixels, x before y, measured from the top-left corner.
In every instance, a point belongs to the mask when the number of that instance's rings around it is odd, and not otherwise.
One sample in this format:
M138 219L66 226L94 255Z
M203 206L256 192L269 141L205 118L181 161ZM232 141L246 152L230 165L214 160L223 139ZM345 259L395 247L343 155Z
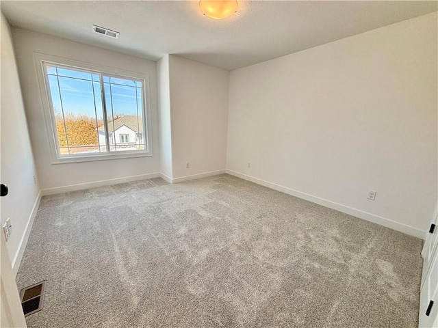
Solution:
M29 327L417 327L422 241L229 175L42 198Z

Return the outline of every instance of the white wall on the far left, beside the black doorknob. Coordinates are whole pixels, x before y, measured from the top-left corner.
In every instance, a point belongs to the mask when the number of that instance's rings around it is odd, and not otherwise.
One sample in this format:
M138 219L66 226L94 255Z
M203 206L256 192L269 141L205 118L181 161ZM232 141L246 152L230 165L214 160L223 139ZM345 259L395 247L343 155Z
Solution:
M23 98L14 46L8 21L1 14L1 151L0 179L8 184L9 194L0 198L1 224L10 217L12 233L6 243L14 271L23 256L33 219L33 208L38 204L38 181L25 117ZM27 234L26 234L27 232ZM0 232L3 234L3 231Z

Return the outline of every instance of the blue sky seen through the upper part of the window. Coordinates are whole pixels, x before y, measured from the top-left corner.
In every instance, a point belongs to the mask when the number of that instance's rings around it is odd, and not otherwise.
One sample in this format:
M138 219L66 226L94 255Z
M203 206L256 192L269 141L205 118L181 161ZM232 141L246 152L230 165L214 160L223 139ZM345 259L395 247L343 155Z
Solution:
M95 103L97 118L103 118L99 74L58 68L57 77L55 75L56 69L53 67L48 67L47 73L55 111L61 112L63 108L64 113L86 114L94 117L96 115ZM114 114L137 115L137 105L138 115L142 115L141 82L103 77L103 84L109 117L112 116L112 112Z

